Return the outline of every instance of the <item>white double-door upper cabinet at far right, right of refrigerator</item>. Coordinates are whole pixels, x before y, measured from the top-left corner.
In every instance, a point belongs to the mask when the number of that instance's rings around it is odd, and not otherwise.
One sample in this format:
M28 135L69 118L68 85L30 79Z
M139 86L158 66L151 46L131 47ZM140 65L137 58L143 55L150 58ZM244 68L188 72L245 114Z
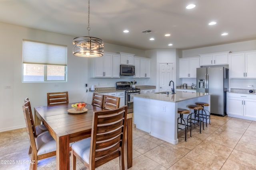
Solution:
M230 53L230 78L256 78L256 51Z

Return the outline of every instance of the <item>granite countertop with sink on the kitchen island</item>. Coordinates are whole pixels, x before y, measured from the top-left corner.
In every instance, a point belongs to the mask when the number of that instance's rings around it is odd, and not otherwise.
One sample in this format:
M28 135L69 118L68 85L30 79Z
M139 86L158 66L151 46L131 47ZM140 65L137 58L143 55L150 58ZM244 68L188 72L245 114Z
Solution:
M162 100L165 102L181 102L184 100L198 98L206 95L210 95L210 94L177 91L176 94L143 93L143 94L135 94L134 97L146 98L146 99L152 99L152 100Z

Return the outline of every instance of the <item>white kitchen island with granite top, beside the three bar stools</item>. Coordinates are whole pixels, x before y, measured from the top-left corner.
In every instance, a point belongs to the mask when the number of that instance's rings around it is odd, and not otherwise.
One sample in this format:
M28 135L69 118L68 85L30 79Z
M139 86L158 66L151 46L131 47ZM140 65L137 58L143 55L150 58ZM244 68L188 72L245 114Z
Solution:
M134 95L134 124L136 128L175 145L178 143L178 108L189 110L187 106L195 102L210 104L210 94L177 91L176 94ZM210 111L210 107L205 109Z

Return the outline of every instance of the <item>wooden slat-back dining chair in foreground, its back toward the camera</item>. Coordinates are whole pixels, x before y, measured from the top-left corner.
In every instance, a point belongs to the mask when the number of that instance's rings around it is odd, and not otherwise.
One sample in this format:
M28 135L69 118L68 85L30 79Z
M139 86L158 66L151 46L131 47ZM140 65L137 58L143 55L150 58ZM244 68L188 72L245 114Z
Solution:
M127 106L94 112L91 137L72 145L72 170L76 169L76 158L94 170L117 157L120 169L124 170L126 117Z

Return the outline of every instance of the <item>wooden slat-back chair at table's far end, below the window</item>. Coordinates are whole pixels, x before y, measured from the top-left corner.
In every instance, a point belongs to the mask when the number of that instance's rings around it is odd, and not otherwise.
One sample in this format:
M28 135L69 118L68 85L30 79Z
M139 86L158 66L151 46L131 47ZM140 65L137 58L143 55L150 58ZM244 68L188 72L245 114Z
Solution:
M68 104L68 92L47 93L47 105Z

